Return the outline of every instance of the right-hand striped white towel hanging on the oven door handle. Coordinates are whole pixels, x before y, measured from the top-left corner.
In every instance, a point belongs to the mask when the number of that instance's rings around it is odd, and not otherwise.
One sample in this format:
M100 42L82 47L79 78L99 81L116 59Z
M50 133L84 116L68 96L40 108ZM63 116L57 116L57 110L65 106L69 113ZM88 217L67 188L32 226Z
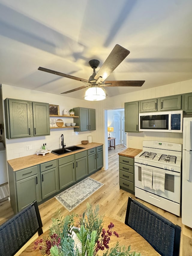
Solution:
M165 192L165 170L153 170L153 189Z

